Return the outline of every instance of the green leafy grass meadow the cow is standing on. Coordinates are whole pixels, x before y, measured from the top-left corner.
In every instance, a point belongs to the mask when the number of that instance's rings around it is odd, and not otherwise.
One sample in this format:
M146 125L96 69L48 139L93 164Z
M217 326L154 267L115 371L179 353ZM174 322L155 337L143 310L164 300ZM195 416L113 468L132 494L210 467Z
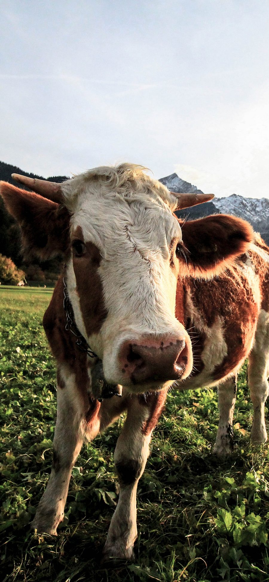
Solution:
M118 497L113 453L123 419L85 445L58 537L29 523L51 469L55 363L42 317L51 290L0 288L1 580L98 582L269 581L268 446L249 443L245 369L239 376L235 452L219 463L213 389L174 391L139 482L136 563L100 566Z

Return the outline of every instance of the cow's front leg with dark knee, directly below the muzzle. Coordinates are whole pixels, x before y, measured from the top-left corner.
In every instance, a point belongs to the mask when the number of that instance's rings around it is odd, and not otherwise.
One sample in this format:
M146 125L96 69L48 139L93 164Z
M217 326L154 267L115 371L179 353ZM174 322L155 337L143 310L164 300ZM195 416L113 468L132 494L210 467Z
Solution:
M137 538L136 490L143 474L151 433L164 407L167 392L135 396L129 399L123 431L115 449L115 467L119 478L119 501L104 546L104 561L110 558L133 559Z

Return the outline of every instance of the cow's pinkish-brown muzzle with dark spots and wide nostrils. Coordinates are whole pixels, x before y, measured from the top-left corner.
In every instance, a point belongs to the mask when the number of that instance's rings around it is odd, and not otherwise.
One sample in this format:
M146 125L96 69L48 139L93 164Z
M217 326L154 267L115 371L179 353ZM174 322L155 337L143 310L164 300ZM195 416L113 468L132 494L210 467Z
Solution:
M192 369L192 350L189 338L157 338L144 336L136 341L126 340L119 350L119 369L123 384L180 380ZM185 373L187 371L187 374Z

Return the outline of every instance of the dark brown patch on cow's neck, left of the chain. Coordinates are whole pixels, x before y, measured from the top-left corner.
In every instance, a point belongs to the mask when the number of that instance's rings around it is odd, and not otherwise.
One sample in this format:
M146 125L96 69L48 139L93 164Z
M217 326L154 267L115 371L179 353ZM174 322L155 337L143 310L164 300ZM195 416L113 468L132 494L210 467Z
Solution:
M90 380L87 372L87 354L80 352L76 346L76 337L66 331L66 312L63 309L63 279L62 275L56 283L51 302L43 317L43 327L47 335L51 351L58 364L68 364L75 374L77 388L82 392L85 406L89 406L87 390L90 391Z

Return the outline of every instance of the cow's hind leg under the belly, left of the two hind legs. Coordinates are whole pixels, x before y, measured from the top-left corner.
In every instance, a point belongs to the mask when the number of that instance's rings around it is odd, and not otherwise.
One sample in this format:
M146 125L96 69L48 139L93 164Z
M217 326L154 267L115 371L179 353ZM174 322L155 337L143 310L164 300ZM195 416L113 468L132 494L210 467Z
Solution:
M233 411L236 399L236 375L218 386L218 408L220 421L213 452L218 457L231 455L233 451Z

